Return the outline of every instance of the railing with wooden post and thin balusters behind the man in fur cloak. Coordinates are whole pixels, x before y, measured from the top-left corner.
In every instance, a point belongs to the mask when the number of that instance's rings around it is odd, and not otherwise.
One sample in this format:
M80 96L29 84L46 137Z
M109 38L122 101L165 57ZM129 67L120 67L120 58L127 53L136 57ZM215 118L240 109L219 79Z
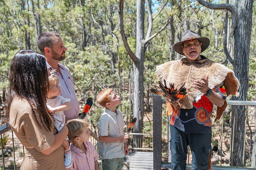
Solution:
M167 155L167 162L162 162L162 104L165 104L166 101L165 99L161 99L160 96L154 95L153 96L153 157L154 157L154 170L160 170L161 167L162 168L171 168L171 161L170 161L170 157L168 157L170 154L168 153ZM233 105L236 109L237 105L244 105L246 106L246 120L247 120L247 111L248 111L248 106L256 106L256 101L227 101L228 105ZM234 109L234 110L235 110ZM165 114L165 113L163 113ZM235 114L234 114L235 115ZM245 120L245 121L246 121ZM221 132L219 135L221 135L221 153L222 151L222 144L223 144L223 121L224 119L222 118L222 128L221 128ZM235 125L236 122L233 123L233 126ZM169 126L169 123L168 123ZM245 130L246 130L246 122L245 122ZM233 135L234 134L233 132ZM254 133L253 135L255 135L255 129L254 129ZM244 145L241 146L243 147L243 161L245 160L245 136L244 138L241 140L244 140ZM168 133L168 138L166 139L167 141L169 141L168 139L170 138L169 133ZM234 137L232 137L232 139L234 139ZM231 141L233 142L233 141ZM254 141L256 142L256 141ZM233 146L233 145L232 145ZM170 148L170 142L168 142L168 149ZM189 148L188 148L189 149ZM230 158L233 158L233 148L230 149ZM256 149L255 149L255 157L256 157ZM254 158L255 159L255 158ZM218 169L218 170L232 170L232 169L236 169L236 170L244 170L244 169L256 169L255 168L255 160L254 160L254 166L253 167L233 167L233 166L224 166L222 165L222 154L221 154L221 160L220 160L220 164L221 165L212 165L212 170ZM188 163L187 163L187 168L186 169L191 169L191 164L189 164L189 153L188 153Z

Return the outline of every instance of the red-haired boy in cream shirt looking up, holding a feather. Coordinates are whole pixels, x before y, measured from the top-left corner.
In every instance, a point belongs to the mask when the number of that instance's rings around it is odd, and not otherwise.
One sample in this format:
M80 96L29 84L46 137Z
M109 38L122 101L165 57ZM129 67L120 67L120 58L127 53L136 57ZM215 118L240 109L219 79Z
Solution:
M120 96L112 88L102 90L97 96L98 103L105 107L98 123L99 151L103 170L119 170L124 167L124 157L129 154L124 135L124 118L116 107L121 104Z

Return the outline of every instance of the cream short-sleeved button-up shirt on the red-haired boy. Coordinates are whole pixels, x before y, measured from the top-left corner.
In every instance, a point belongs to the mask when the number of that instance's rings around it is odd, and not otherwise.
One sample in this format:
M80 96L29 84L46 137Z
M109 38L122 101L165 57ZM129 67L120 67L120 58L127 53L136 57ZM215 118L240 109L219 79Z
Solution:
M121 111L116 113L106 109L98 123L99 136L118 137L124 135L124 118ZM125 157L123 142L99 141L101 159L113 159Z

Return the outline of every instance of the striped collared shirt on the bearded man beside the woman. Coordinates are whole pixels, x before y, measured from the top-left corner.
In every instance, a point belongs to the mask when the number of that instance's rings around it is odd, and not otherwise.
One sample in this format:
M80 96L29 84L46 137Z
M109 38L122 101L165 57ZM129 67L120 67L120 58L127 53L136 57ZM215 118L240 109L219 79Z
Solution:
M53 70L53 68L47 62L46 66L49 71ZM53 74L56 75L59 79L60 96L66 99L70 99L71 104L71 108L67 111L64 111L64 114L67 119L78 118L79 103L75 95L73 78L70 75L69 69L65 65L59 62L58 66L61 75L58 72L54 72Z

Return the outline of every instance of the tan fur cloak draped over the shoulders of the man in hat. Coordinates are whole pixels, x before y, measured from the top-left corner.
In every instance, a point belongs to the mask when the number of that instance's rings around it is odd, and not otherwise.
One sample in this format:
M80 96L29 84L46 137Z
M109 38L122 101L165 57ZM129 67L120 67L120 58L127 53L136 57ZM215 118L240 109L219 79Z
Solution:
M201 78L209 75L209 88L224 83L227 96L239 96L238 88L240 83L234 76L234 72L222 64L215 63L209 59L198 60L190 63L186 58L181 60L170 61L156 67L156 74L159 80L163 83L166 80L167 85L174 83L175 88L179 89L185 82L187 94L179 100L180 108L193 108L193 101L201 99L203 93L193 87L194 81L202 81ZM217 115L215 121L220 119L227 102L224 102L222 107L217 107ZM171 104L166 101L166 114L172 114Z

